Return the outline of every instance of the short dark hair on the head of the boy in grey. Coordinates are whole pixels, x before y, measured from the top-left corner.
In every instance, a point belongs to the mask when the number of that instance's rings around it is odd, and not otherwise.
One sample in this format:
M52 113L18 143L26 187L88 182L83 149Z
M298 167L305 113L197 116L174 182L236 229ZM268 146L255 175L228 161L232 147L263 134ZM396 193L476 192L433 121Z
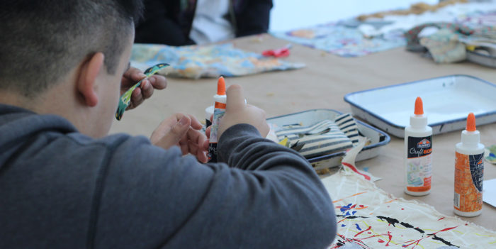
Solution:
M0 89L34 97L96 52L115 74L141 0L4 0Z

